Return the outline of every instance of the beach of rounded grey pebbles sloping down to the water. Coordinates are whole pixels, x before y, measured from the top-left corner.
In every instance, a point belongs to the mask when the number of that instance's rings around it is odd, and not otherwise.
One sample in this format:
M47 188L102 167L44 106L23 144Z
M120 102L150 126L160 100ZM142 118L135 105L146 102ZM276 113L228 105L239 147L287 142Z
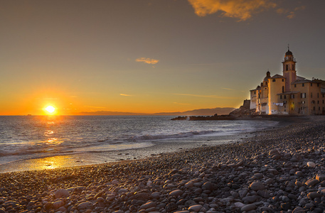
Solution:
M324 212L325 116L142 160L0 174L1 212Z

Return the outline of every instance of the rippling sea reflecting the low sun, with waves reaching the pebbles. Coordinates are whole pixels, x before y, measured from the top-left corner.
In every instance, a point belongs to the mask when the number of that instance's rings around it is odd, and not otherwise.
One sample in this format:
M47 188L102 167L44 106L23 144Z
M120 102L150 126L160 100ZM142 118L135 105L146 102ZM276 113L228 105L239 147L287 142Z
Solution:
M0 116L0 173L106 163L122 151L270 129L278 121L172 121L174 116ZM173 150L170 146L169 151ZM126 153L127 155L128 153ZM132 158L135 159L135 158Z

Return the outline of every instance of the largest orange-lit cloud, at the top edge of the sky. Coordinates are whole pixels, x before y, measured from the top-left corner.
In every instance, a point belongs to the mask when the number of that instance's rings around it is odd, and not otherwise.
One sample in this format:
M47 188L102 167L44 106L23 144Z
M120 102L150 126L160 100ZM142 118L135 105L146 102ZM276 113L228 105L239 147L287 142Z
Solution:
M221 12L222 16L245 21L264 9L275 8L270 0L188 0L198 16Z

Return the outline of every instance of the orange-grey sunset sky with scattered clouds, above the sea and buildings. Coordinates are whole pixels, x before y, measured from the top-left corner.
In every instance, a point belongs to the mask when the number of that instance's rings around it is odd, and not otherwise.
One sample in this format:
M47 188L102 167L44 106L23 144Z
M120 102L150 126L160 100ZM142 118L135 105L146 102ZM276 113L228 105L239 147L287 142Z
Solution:
M0 115L240 107L265 77L325 80L325 1L0 0Z

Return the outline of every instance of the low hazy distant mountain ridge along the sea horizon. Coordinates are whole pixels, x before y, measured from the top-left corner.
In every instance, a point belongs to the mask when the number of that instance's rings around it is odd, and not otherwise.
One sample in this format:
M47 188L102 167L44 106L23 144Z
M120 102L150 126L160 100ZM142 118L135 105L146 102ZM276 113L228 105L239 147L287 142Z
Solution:
M213 116L214 114L229 114L236 108L216 107L214 109L194 109L190 111L159 112L154 114L133 113L123 111L82 111L80 115L170 115L170 116Z

